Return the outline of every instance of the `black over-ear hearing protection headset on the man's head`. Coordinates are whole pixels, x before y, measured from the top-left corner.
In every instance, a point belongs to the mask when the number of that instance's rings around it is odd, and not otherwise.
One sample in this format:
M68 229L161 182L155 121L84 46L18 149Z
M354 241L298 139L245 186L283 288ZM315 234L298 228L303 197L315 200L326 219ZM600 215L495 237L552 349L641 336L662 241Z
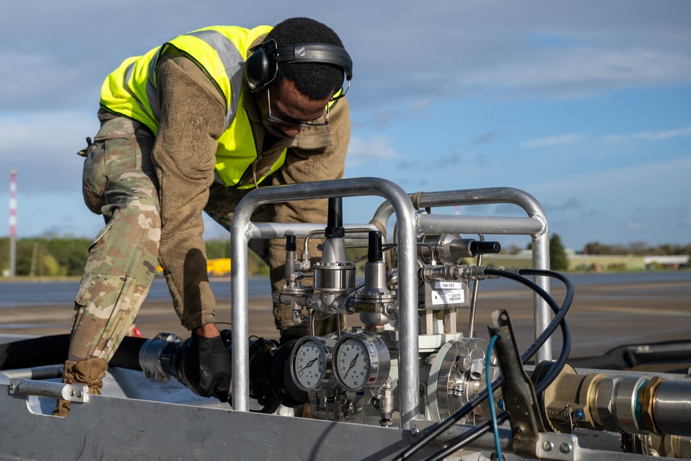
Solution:
M345 78L352 78L352 59L340 46L330 44L294 44L277 48L276 41L269 39L252 48L252 55L245 62L245 78L252 93L263 90L276 78L278 63L321 62L343 69Z

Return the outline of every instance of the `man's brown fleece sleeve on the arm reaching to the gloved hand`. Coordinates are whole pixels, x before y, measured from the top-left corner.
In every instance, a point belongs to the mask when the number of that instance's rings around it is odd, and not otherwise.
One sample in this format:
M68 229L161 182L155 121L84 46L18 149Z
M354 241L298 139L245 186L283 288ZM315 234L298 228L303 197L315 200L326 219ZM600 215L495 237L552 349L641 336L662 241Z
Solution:
M202 70L182 55L164 55L156 79L161 112L152 157L161 207L159 261L180 323L192 330L214 321L216 310L202 210L214 181L225 103Z

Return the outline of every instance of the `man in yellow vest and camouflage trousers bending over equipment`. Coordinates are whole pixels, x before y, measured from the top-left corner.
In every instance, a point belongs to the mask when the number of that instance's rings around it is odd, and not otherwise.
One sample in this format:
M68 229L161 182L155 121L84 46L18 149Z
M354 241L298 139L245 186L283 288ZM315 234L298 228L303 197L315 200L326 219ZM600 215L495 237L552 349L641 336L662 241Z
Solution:
M341 178L350 140L341 96L351 66L330 28L293 18L180 35L106 77L101 129L83 152L84 200L106 225L75 298L63 382L100 393L160 263L191 331L190 386L227 399L231 364L214 322L202 210L229 229L255 187ZM323 222L325 208L326 200L277 204L253 219ZM253 241L252 250L280 288L283 243ZM281 335L296 333L290 309L274 306L274 318ZM68 411L60 401L54 414Z

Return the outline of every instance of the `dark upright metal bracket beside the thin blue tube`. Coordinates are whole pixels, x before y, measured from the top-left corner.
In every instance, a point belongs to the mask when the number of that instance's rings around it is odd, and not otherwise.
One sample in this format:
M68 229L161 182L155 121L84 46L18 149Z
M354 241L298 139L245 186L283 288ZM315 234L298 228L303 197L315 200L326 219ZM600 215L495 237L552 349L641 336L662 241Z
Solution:
M535 388L518 355L509 312L495 310L491 315L491 335L497 335L499 365L502 370L502 395L513 433L513 452L526 458L537 454L538 432L545 431L540 418Z

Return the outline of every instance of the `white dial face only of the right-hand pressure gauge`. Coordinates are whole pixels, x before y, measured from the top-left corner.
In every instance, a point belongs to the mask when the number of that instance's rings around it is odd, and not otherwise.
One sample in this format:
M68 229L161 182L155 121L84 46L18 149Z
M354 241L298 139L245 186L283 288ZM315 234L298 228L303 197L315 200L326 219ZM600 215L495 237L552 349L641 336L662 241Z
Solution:
M334 351L334 371L346 391L359 391L368 384L372 361L364 341L357 336L343 337Z

